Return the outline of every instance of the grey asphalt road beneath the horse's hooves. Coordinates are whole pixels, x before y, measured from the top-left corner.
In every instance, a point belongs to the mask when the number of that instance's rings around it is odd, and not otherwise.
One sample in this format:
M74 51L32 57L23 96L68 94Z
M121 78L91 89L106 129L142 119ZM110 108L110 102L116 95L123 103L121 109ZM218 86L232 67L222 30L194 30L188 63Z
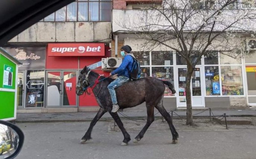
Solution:
M255 159L256 126L197 127L174 121L180 138L171 144L167 123L155 121L139 143L120 146L123 135L112 122L98 122L92 140L80 144L89 122L18 123L25 143L16 159ZM124 120L135 138L145 123Z

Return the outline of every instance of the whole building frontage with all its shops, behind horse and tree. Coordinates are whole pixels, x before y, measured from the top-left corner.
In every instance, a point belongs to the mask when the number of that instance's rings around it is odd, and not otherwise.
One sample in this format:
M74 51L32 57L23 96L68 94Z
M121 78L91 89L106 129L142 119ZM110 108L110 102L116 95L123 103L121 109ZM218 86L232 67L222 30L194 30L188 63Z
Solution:
M18 73L18 112L98 110L94 96L75 94L79 72L86 65L108 75L101 69L101 59L121 57L123 45L132 47L142 77L173 83L177 93L172 94L166 87L166 107L186 107L186 62L166 47L142 49L143 39L117 23L132 21L150 3L77 0L10 40L5 49L23 63ZM154 3L161 5L162 1ZM248 57L239 60L218 50L203 56L192 75L191 94L192 107L256 106L256 51L251 49Z

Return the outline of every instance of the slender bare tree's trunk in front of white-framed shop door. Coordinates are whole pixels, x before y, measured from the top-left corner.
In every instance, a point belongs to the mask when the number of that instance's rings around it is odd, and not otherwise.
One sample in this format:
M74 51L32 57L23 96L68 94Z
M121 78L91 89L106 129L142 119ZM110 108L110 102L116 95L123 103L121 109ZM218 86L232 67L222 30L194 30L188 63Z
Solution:
M186 76L186 78L187 78L187 80L186 80L187 122L186 122L186 125L193 124L191 90L190 90L190 82L191 82L192 73L193 73L193 66L187 65L187 76Z

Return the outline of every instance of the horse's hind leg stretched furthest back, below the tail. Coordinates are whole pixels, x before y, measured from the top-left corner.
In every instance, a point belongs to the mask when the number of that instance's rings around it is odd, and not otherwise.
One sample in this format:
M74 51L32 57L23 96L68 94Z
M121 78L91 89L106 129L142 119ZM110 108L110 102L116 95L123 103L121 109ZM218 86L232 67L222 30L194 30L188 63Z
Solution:
M157 110L161 113L161 115L164 117L164 119L167 121L170 129L171 129L171 134L173 136L173 144L176 144L178 142L178 133L175 130L175 127L173 126L173 122L171 120L171 116L170 114L166 111L166 109L164 108L163 104L162 104L162 100L161 102L158 103L158 105L156 106Z

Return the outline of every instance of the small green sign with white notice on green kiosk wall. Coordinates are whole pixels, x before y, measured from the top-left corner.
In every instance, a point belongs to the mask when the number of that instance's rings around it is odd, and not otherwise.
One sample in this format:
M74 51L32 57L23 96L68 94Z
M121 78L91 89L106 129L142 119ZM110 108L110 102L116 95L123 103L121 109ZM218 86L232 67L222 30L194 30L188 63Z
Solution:
M12 88L13 67L4 64L3 88Z

